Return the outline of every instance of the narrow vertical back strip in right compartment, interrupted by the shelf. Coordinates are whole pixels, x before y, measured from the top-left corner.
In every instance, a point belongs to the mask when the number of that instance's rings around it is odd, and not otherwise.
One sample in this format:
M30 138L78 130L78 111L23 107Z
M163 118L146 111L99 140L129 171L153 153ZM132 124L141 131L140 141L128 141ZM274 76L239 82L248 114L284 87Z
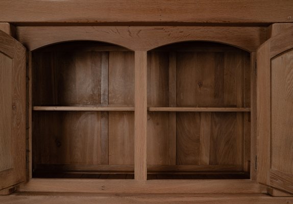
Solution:
M176 107L176 52L169 53L169 107ZM169 112L169 165L176 165L176 112Z

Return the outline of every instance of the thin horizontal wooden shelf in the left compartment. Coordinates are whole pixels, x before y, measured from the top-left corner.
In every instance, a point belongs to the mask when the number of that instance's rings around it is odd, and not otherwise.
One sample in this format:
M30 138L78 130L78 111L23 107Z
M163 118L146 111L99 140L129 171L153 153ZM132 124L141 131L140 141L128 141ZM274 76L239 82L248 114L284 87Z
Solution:
M134 107L114 106L34 106L34 111L134 111Z

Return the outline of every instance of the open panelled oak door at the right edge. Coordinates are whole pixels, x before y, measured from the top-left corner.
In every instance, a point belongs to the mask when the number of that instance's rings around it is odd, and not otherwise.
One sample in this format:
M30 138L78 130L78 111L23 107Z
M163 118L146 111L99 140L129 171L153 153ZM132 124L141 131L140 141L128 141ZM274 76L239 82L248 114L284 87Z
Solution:
M293 193L293 27L257 51L257 181Z

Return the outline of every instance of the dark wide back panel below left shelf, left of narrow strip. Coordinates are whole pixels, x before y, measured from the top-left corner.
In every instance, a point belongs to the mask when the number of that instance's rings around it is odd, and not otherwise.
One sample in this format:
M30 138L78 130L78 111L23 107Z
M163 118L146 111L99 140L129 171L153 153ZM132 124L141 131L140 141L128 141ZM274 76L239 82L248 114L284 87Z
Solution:
M35 164L102 164L100 112L34 112Z

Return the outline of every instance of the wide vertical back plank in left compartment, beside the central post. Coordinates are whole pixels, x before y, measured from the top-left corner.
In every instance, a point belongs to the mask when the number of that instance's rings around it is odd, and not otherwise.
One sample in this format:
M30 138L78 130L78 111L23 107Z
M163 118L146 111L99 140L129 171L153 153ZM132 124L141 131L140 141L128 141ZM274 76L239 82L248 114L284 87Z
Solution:
M134 105L134 53L109 53L109 106ZM134 115L108 113L109 164L134 163Z

